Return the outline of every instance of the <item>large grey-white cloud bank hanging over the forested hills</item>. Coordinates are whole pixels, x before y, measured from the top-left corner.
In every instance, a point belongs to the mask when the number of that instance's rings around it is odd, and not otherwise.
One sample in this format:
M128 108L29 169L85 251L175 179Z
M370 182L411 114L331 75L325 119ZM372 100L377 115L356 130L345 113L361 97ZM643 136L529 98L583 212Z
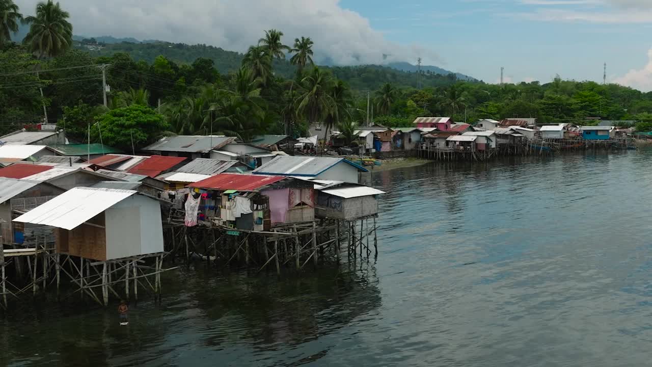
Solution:
M38 0L16 0L23 14L32 14ZM435 52L399 46L373 29L368 19L340 7L339 0L66 0L76 35L134 37L189 44L202 43L244 52L265 29L285 33L291 46L296 37L311 37L315 59L334 63L413 61L441 63Z

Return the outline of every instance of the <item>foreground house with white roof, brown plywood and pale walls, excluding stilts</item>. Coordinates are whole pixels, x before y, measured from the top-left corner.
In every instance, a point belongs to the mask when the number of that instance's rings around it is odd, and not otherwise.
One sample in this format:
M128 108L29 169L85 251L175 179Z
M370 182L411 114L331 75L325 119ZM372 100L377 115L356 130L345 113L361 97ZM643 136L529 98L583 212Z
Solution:
M96 261L163 251L160 203L134 190L76 187L14 222L55 227L57 253Z

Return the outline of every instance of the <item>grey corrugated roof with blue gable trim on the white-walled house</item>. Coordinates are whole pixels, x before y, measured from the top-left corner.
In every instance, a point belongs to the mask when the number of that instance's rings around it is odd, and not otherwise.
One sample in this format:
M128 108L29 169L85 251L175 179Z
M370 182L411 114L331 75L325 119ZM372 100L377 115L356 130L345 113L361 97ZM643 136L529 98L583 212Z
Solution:
M349 165L368 172L366 168L356 165L344 158L336 157L293 157L290 155L278 156L265 165L254 170L254 174L281 174L286 176L317 176L325 170L333 167L340 162L346 162Z

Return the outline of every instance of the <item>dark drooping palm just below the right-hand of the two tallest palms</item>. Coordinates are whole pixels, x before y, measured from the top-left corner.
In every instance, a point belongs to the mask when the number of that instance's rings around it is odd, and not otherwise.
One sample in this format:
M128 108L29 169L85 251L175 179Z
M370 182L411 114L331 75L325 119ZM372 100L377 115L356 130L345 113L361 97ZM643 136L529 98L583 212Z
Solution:
M301 80L303 93L297 99L297 111L306 116L309 125L326 118L335 108L333 99L333 80L318 67ZM328 127L326 129L328 136Z

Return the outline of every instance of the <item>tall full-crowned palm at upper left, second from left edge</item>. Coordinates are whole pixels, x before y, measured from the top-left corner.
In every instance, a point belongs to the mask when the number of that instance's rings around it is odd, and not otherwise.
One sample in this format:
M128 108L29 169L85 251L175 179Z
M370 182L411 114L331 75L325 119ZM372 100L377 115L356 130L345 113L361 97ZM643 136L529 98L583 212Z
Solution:
M38 57L53 57L63 54L72 46L72 24L70 14L48 0L37 4L37 15L28 16L25 22L31 24L25 36L25 44Z

